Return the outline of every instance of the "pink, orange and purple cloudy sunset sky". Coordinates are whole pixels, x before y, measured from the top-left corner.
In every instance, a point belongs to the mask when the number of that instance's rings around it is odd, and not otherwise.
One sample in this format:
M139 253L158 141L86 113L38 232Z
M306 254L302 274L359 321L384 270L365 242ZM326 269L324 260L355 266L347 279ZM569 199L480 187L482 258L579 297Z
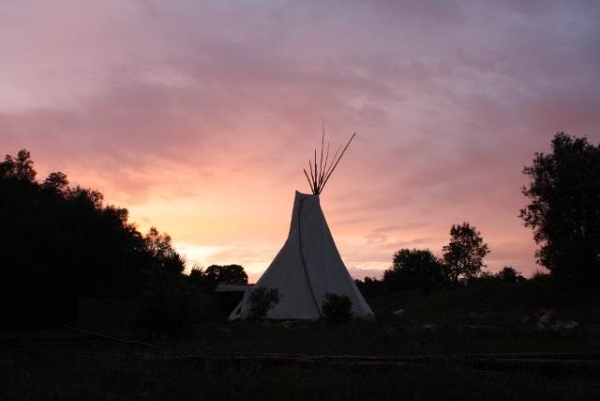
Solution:
M193 264L255 281L320 145L351 274L481 231L487 270L538 267L523 167L600 142L600 2L0 1L0 145L125 207Z

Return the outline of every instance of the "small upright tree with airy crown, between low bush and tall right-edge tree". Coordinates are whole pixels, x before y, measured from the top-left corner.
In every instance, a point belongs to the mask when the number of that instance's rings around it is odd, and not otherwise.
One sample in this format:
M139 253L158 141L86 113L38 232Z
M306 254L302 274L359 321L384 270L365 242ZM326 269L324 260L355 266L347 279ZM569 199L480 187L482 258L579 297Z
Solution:
M450 243L443 247L444 262L450 282L458 283L460 278L470 280L477 277L485 267L483 258L490 252L483 242L481 233L469 223L452 225Z

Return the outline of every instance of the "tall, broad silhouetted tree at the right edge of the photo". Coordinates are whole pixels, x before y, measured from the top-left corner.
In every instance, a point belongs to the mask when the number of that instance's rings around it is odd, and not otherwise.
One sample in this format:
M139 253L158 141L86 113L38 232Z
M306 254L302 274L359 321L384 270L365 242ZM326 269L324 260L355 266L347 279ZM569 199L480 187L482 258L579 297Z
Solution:
M557 133L552 153L523 169L530 203L519 217L539 245L537 263L558 276L600 275L600 145Z

